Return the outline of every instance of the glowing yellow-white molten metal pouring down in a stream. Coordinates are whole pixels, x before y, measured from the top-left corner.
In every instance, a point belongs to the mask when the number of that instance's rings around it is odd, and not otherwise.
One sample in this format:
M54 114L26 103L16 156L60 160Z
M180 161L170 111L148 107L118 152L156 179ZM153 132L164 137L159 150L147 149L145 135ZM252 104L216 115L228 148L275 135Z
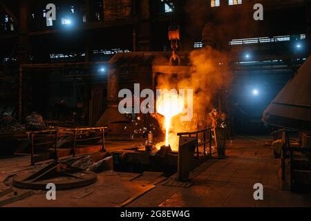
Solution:
M169 146L171 118L182 112L184 101L177 93L161 93L157 99L157 112L165 119L165 146Z

